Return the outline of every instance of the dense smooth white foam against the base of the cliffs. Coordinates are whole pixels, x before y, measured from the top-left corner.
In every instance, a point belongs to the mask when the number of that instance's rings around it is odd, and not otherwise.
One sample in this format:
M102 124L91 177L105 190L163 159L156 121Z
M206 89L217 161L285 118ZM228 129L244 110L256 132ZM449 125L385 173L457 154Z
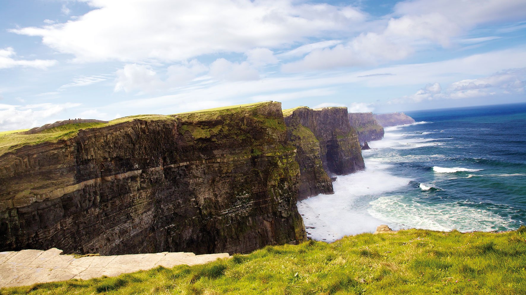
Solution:
M378 225L385 224L385 220L368 213L369 202L410 181L385 172L389 166L366 159L365 171L338 177L333 183L334 194L299 201L298 211L304 215L309 236L332 242L345 235L374 232Z

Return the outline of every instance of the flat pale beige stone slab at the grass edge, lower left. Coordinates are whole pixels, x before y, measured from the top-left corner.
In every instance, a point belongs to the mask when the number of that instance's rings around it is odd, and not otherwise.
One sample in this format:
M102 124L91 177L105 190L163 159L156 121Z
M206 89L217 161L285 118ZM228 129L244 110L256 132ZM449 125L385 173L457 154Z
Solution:
M62 250L0 252L0 288L34 283L118 276L156 266L195 265L229 257L228 253L195 255L185 252L88 256L62 255Z

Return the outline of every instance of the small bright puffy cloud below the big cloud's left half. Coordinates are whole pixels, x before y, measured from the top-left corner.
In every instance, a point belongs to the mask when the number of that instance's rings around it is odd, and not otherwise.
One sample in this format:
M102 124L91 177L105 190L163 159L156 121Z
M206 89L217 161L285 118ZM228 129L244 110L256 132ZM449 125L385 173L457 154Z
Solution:
M157 73L148 65L126 64L123 69L117 70L114 91L131 92L154 91L158 89L163 82L157 76Z

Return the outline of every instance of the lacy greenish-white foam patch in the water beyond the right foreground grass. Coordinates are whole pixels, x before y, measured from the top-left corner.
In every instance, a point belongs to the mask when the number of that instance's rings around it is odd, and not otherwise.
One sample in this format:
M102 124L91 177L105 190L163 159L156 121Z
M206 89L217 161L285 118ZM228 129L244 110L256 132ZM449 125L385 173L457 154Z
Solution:
M424 228L433 231L494 231L511 228L512 221L468 203L452 202L429 205L402 195L382 196L371 201L368 212L388 220L394 228Z

